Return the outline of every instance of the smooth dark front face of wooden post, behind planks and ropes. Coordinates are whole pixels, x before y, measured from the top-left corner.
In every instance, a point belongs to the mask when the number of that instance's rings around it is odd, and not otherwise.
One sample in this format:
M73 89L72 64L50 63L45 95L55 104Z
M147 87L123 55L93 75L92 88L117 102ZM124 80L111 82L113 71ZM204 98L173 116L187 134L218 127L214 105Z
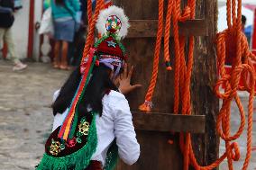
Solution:
M158 20L157 0L114 0L114 4L123 7L130 20ZM127 96L130 108L138 111L138 106L144 102L148 90L153 66L153 54L156 37L134 37L123 40L127 49L129 63L135 66L133 81L142 84L142 88ZM171 49L173 50L173 49ZM160 52L160 69L156 85L152 112L173 112L173 72L167 72ZM182 155L178 146L178 138L170 132L136 130L137 139L141 145L141 156L133 166L122 162L117 170L180 170ZM168 140L173 139L173 145Z

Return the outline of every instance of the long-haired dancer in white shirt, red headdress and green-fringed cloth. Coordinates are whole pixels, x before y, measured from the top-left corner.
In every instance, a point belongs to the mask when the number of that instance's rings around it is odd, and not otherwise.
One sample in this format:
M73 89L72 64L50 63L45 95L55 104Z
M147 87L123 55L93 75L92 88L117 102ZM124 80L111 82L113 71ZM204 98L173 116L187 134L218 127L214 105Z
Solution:
M129 104L114 85L125 66L120 40L128 27L121 8L110 6L99 14L102 37L54 94L53 132L37 169L108 170L118 156L128 165L139 158Z

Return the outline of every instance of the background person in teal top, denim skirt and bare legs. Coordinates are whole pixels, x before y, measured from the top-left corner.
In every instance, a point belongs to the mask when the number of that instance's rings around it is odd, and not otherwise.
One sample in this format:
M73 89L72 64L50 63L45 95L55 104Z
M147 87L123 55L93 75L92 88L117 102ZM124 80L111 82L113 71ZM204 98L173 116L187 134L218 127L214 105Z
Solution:
M45 1L47 2L47 1ZM80 9L78 0L51 0L45 3L45 8L51 7L54 25L54 58L53 67L69 69L68 49L72 42L76 27L76 14ZM59 49L61 48L61 53ZM59 53L61 57L59 58Z

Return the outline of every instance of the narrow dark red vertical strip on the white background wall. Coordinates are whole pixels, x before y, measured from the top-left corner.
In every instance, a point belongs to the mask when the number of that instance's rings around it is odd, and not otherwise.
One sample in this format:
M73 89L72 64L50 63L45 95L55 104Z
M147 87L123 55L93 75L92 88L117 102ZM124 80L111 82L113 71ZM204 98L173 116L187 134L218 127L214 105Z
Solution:
M32 58L33 52L33 37L34 37L34 1L30 0L30 15L29 15L29 37L27 58Z

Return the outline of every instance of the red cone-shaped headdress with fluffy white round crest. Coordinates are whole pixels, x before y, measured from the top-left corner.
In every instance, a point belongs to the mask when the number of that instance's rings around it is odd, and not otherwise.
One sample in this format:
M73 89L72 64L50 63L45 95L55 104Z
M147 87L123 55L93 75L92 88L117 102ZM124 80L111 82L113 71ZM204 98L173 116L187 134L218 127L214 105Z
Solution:
M109 6L98 15L96 29L101 34L101 38L96 41L94 48L90 49L90 55L96 55L96 63L103 63L112 70L116 67L115 76L127 59L120 40L127 35L129 27L128 17L120 7ZM81 66L81 70L84 70L87 66L87 58L82 61Z

